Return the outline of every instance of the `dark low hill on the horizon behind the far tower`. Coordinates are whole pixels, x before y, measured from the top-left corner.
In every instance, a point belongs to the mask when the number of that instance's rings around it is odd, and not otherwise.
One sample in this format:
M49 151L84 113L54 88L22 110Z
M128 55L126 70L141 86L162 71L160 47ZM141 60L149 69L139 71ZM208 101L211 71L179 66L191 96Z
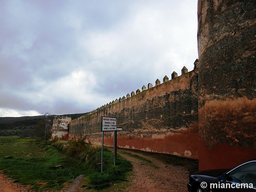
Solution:
M83 116L86 113L77 114L63 114L57 116L71 116L72 119ZM50 115L50 125L52 125L53 117L56 115ZM35 136L36 126L40 124L44 119L44 116L23 116L23 117L0 117L0 136ZM41 123L42 124L42 123Z

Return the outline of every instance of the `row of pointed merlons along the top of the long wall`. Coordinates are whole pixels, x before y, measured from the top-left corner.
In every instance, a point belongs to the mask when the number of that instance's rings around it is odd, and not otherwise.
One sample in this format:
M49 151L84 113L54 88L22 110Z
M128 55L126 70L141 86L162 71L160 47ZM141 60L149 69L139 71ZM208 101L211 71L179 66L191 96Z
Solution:
M195 60L195 62L194 62L194 69L193 69L192 71L197 70L197 68L198 68L198 59ZM168 81L173 81L173 80L176 79L177 77L181 77L181 76L185 75L186 73L189 73L189 72L188 72L188 69L184 66L184 67L181 69L181 75L180 75L180 76L178 76L178 74L177 74L175 71L173 71L173 72L172 72L172 75L171 75L171 80L169 80L168 76L165 75L164 78L163 78L163 83L162 83L162 84L164 84L164 83L166 83L166 82L168 82ZM156 79L155 87L158 86L158 85L161 85L161 81L160 81L159 79ZM151 88L153 88L153 84L152 84L152 83L148 83L148 89L151 89ZM124 100L131 99L133 96L138 95L138 94L140 94L141 92L144 92L144 91L146 91L146 90L147 90L146 86L143 85L143 86L141 87L141 91L140 91L140 89L137 89L137 90L136 90L136 94L135 94L133 91L131 92L131 95L130 95L129 93L127 93L127 94L126 94L126 97L123 96L122 98L119 97L119 99L116 98L116 100L112 100L112 102L110 101L109 103L104 104L104 105L98 107L97 109L94 109L94 110L88 112L87 114L85 114L85 115L83 115L83 116L80 116L80 117L78 117L78 118L76 118L76 119L73 119L71 122L77 121L77 120L79 120L79 119L84 119L84 117L89 116L89 115L91 115L92 113L99 112L100 110L103 110L104 108L108 108L109 106L115 105L115 104L120 103L120 102L122 102L122 101L124 101Z

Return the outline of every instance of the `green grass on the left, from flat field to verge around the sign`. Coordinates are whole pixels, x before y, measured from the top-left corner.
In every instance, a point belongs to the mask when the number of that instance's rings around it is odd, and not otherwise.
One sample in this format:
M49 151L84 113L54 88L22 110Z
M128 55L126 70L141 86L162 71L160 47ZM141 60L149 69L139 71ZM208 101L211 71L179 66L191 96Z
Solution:
M91 150L90 156L79 153L77 158L68 158L67 152L58 150L54 144L31 138L0 137L0 170L15 182L32 185L34 191L60 190L63 183L72 182L81 174L86 177L87 188L106 188L111 182L125 180L132 170L132 165L120 156L113 166L113 153L104 150L104 172L100 172L100 166L95 166L100 161L100 149ZM62 166L56 168L56 165Z

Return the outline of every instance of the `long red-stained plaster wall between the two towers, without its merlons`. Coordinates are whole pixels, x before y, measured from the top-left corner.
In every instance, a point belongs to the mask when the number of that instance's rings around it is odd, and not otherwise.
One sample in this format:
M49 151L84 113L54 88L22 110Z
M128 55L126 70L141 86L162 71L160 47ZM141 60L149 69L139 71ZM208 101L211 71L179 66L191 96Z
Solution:
M197 69L165 81L71 121L69 136L81 133L100 144L101 116L116 117L123 128L118 147L198 158ZM104 134L104 145L113 146L113 132Z

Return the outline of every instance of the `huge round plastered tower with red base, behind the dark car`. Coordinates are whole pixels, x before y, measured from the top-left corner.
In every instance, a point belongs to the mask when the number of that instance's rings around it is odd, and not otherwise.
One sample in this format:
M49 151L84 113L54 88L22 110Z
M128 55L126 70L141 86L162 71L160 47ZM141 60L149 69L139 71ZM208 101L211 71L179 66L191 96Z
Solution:
M200 170L255 158L255 9L255 0L198 0Z

